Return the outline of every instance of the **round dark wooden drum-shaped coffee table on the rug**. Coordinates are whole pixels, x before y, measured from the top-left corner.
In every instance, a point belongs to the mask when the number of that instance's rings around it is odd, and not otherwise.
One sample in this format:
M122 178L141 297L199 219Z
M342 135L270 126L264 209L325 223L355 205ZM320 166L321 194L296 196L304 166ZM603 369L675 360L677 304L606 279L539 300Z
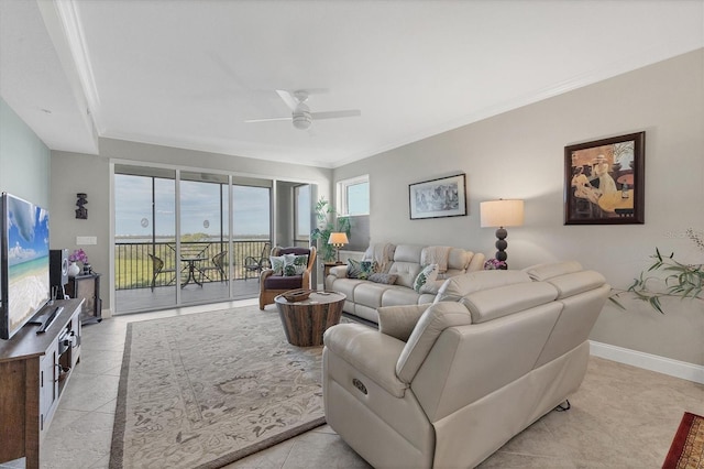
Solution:
M286 339L298 347L322 345L322 334L340 323L346 296L339 292L312 292L308 299L289 303L283 295L274 298Z

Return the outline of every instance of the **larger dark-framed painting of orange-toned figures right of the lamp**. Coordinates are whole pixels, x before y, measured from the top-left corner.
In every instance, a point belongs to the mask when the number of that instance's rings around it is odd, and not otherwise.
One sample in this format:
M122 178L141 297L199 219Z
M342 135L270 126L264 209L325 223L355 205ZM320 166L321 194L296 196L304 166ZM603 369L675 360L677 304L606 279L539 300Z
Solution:
M564 225L645 222L646 132L564 148Z

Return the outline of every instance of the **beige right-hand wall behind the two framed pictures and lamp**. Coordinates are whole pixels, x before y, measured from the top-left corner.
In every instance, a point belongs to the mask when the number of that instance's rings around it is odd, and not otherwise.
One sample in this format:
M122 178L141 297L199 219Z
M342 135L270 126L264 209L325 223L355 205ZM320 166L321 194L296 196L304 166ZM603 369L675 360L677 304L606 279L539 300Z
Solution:
M564 226L564 146L646 131L646 223ZM469 216L409 220L408 184L466 173ZM625 288L659 247L685 262L704 252L684 237L704 232L704 50L496 116L337 168L369 174L373 242L438 243L492 257L494 229L480 203L526 200L526 222L508 229L512 269L576 259ZM660 315L626 301L607 306L592 339L704 364L704 304L667 302Z

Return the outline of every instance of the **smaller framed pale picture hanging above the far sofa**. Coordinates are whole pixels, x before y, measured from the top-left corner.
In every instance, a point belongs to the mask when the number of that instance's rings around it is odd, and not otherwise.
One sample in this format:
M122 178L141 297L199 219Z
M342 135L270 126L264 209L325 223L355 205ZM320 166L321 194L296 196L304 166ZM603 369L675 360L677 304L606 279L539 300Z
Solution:
M408 206L411 220L465 216L465 174L409 184Z

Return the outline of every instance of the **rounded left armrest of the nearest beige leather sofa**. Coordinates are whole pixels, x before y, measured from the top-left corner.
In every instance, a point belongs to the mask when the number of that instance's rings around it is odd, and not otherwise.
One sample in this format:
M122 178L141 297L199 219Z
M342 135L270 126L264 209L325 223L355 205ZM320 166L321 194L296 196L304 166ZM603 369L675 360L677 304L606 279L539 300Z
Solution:
M329 352L337 355L395 397L408 385L396 377L396 362L405 342L361 324L338 324L323 336Z

